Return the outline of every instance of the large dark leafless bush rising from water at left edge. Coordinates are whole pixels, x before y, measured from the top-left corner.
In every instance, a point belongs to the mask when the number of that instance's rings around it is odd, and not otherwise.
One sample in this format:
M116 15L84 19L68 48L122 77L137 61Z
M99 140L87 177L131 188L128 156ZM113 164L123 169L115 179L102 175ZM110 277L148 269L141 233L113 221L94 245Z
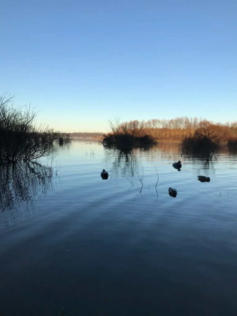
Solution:
M53 151L53 145L70 143L72 137L35 123L30 106L14 106L14 95L0 96L0 162L38 161Z

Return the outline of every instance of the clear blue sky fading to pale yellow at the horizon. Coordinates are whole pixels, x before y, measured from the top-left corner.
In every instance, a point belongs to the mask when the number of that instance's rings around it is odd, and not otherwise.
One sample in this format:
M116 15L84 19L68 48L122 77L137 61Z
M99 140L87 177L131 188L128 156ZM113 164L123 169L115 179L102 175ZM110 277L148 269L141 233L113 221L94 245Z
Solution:
M237 120L236 0L8 0L0 95L60 131Z

